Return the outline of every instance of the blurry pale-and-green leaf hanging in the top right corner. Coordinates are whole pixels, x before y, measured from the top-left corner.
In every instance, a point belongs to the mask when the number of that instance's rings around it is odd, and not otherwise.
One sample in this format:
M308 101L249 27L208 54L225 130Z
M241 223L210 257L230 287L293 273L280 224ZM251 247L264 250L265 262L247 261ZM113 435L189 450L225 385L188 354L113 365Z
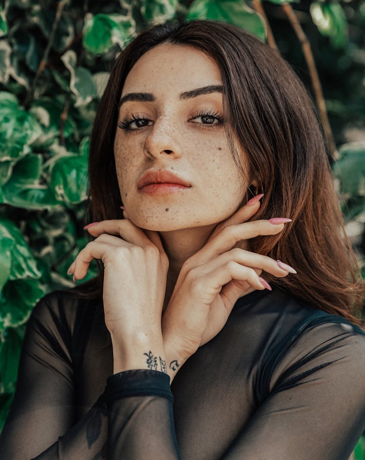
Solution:
M348 41L347 19L338 2L310 4L310 14L320 33L329 37L334 48L343 48Z

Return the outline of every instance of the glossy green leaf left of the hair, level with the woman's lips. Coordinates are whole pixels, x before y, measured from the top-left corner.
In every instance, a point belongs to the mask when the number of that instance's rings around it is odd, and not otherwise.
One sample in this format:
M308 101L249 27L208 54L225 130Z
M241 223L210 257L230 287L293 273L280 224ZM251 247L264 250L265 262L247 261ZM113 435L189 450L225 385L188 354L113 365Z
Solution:
M83 202L88 196L88 159L85 155L63 155L51 166L51 181L57 200Z

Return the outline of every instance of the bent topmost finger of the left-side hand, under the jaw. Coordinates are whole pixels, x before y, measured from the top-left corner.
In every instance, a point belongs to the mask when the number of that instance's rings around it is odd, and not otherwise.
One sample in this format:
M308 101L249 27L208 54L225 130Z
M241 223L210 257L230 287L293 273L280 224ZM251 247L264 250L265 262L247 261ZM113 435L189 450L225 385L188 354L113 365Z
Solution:
M125 241L141 246L142 248L151 245L151 240L146 237L142 229L134 225L129 219L111 219L100 221L92 227L87 228L93 237L98 237L103 233L116 235Z

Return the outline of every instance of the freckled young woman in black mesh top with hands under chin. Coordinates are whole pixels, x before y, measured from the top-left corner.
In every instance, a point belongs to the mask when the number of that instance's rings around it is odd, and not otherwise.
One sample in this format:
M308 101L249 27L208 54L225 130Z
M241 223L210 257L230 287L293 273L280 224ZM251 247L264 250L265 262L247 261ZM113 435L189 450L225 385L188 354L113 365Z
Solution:
M276 51L210 21L136 37L94 122L89 205L69 274L100 275L32 312L1 459L350 456L362 281Z

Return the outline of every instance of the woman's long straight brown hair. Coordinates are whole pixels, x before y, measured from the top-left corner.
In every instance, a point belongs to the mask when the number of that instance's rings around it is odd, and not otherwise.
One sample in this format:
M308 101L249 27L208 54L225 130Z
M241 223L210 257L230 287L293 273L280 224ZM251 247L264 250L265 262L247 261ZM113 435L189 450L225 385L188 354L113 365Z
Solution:
M364 284L345 233L318 112L279 52L233 25L168 22L141 33L117 57L91 134L88 222L122 219L113 156L118 102L135 62L164 42L195 47L219 66L233 158L244 174L235 139L264 192L254 220L292 219L278 235L250 240L251 251L297 269L296 276L273 279L274 285L363 326ZM104 267L100 260L97 266L99 276L73 292L102 295Z

